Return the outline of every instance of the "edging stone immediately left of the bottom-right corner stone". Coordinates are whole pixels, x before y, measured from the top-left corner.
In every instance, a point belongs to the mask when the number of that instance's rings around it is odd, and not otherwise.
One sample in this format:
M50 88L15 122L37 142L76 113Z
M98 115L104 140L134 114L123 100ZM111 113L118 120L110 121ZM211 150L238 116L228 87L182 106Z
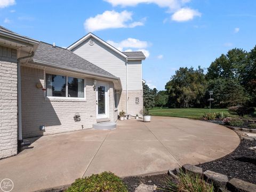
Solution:
M208 180L209 182L213 182L214 187L224 187L227 185L228 177L225 174L216 173L213 171L205 171L204 172L204 178L205 180Z

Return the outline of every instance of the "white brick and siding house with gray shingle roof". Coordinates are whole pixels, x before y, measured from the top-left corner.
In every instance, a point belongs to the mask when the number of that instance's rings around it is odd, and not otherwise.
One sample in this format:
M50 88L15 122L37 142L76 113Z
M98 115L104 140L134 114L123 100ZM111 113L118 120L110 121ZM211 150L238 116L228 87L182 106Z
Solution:
M121 110L139 114L142 60L92 33L63 49L0 27L0 159L24 138L116 122Z

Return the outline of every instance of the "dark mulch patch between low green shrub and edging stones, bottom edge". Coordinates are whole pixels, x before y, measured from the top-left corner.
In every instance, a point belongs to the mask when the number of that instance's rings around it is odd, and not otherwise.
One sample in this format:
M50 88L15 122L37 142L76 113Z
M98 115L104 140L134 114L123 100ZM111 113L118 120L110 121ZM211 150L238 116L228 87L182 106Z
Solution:
M157 175L150 175L150 176L134 176L134 177L126 177L123 179L125 184L128 186L129 192L134 192L135 188L138 187L141 183L146 185L156 185L156 191L163 191L158 188L165 189L166 182L169 180L173 180L167 173L166 174L157 174Z

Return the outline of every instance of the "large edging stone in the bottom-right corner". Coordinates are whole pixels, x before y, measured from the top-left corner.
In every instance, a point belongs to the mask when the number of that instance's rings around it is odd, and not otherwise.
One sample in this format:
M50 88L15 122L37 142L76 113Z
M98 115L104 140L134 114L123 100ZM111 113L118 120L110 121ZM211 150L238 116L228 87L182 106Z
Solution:
M240 179L233 178L227 183L227 188L235 192L255 192L256 185Z

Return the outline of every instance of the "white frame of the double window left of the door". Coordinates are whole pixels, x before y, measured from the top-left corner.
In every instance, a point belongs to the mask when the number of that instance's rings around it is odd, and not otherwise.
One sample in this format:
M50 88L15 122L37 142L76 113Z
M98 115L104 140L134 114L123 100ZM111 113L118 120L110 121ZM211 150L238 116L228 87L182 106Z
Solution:
M44 79L45 79L45 89L47 89L46 87L46 74L50 74L50 75L59 75L59 76L64 76L66 77L66 97L54 97L54 96L47 96L47 91L45 91L45 97L49 98L49 99L58 99L58 100L62 100L62 99L67 99L67 100L86 100L86 79L85 78L81 78L81 77L75 77L75 76L68 76L68 75L61 75L61 74L56 74L56 73L47 73L45 72L44 74ZM80 78L80 79L84 79L84 97L83 98L76 98L76 97L68 97L68 77L73 77L73 78Z

